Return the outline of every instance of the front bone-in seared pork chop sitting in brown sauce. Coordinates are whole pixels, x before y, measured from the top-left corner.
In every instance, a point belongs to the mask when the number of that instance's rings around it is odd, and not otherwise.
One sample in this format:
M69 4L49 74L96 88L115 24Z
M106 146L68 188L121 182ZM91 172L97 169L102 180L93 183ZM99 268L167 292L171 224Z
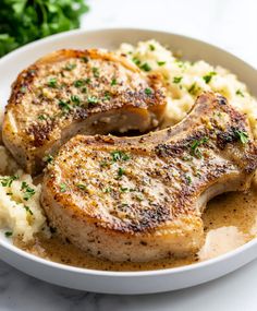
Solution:
M200 95L173 128L139 137L77 135L45 175L41 204L72 243L111 261L196 252L208 200L249 188L257 152L224 97Z

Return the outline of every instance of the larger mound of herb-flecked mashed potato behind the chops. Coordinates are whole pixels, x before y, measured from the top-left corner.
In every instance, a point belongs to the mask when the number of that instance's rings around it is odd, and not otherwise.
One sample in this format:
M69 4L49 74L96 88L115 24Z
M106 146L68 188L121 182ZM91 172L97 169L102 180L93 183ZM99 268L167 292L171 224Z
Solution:
M227 69L203 60L182 61L156 40L142 41L137 46L122 44L118 52L126 55L146 73L162 75L169 95L163 127L181 121L203 91L213 91L247 115L257 139L257 100L250 96L246 85Z

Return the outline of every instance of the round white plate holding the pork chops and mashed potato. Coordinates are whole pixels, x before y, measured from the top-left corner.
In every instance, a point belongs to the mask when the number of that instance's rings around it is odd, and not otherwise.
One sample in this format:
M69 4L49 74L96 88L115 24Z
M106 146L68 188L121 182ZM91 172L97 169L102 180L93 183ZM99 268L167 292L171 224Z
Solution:
M204 59L230 69L257 96L257 71L244 61L206 43L170 33L143 29L73 31L29 44L0 60L0 96L5 105L11 83L17 73L37 58L61 48L101 47L114 49L121 43L136 44L155 38L173 50L182 50L189 60ZM201 263L151 272L102 272L77 268L28 254L0 234L0 259L40 279L76 289L108 294L147 294L198 285L224 274L257 258L257 239L243 247Z

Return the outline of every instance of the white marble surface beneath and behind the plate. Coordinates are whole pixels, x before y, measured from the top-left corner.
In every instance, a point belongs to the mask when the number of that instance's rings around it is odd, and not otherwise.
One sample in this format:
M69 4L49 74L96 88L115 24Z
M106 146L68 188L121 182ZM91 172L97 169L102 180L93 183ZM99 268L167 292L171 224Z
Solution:
M144 27L185 34L223 47L257 68L255 0L88 1L84 28ZM0 254L1 256L1 254ZM0 311L257 310L257 261L215 282L145 296L88 294L53 286L0 261Z

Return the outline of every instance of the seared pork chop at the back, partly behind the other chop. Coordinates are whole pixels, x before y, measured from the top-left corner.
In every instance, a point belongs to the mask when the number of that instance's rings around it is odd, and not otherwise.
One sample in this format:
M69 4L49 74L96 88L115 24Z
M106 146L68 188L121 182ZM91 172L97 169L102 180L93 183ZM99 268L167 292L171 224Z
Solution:
M124 57L60 50L24 70L12 86L3 142L29 174L77 133L149 131L162 120L164 89Z

